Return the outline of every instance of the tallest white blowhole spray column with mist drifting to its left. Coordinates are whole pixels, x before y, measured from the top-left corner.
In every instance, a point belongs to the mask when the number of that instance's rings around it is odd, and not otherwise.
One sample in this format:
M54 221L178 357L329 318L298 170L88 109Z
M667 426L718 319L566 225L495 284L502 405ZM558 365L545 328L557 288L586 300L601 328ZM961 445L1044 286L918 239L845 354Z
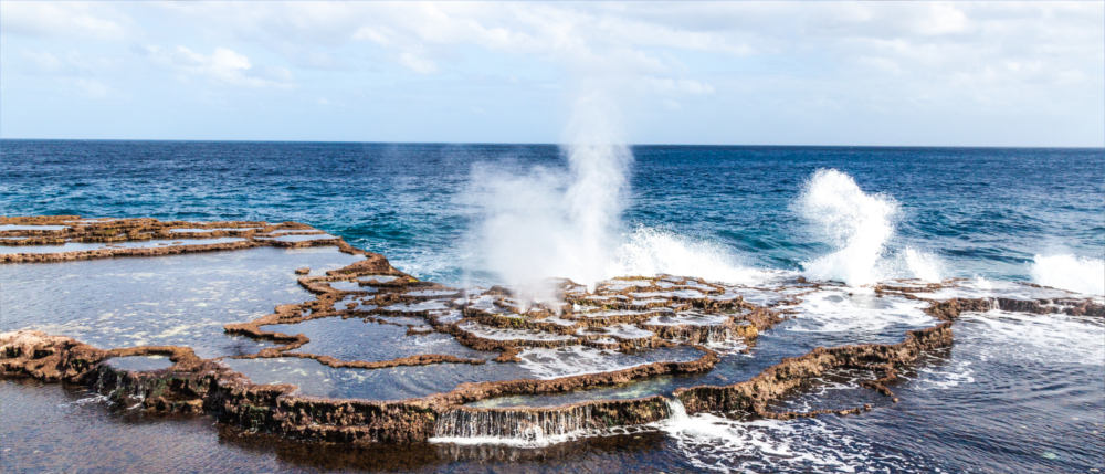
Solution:
M473 168L480 209L470 239L475 266L527 302L551 302L554 277L589 286L602 280L620 233L632 154L615 107L599 94L578 99L567 127L567 172Z

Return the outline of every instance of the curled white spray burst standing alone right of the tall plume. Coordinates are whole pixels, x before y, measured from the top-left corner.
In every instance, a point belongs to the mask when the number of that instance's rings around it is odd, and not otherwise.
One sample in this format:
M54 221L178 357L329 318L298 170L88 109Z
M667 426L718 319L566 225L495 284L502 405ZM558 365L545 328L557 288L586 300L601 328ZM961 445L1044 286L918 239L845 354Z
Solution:
M894 234L897 202L867 194L851 176L820 169L807 182L794 208L824 235L833 252L807 262L804 273L815 280L867 285L881 278L877 270Z

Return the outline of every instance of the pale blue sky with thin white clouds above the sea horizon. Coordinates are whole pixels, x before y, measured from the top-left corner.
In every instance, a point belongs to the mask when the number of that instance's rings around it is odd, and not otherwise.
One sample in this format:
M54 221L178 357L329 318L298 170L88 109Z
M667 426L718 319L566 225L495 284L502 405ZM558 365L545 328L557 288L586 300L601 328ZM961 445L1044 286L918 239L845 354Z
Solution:
M1105 146L1105 2L0 0L0 137Z

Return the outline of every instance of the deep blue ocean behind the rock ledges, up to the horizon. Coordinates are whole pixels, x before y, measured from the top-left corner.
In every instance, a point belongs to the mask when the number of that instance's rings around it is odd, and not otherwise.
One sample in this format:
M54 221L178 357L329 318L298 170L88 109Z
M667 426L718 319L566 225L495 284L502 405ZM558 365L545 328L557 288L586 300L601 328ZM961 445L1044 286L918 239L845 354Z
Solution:
M476 164L564 168L554 145L0 141L0 214L295 220L456 283L477 219ZM622 225L705 242L753 267L829 252L793 209L838 169L899 207L887 249L935 255L941 276L1030 280L1036 254L1105 253L1105 150L636 146Z

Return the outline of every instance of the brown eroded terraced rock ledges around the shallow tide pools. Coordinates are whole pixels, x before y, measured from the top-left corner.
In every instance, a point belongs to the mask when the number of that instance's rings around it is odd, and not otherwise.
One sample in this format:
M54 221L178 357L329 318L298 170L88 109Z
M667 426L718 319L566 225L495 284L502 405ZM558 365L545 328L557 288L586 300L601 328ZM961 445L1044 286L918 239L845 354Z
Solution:
M461 383L453 390L396 401L333 399L302 396L293 385L259 385L218 359L197 357L188 347L141 346L102 349L70 337L18 330L0 334L0 377L30 377L81 383L127 407L154 413L207 413L245 430L296 440L335 443L419 442L432 436L464 435L466 426L499 420L490 434L518 438L537 433L602 431L641 425L671 414L672 399L652 396L631 400L594 400L544 408L473 408L481 400L506 396L565 393L632 382L661 375L711 370L722 355L749 350L760 331L788 317L780 304L799 292L764 298L758 288L717 285L696 278L627 277L588 292L560 282L562 303L527 307L506 288L462 291L419 282L388 263L382 255L349 246L338 238L294 222L161 222L154 219L82 220L77 217L0 218L0 234L15 246L66 243L126 243L171 240L187 233L189 243L160 246L105 246L57 252L0 254L2 263L59 262L107 256L156 256L185 252L241 250L262 245L336 245L365 259L325 275L296 270L298 283L315 298L276 307L273 314L248 323L225 325L227 334L278 344L243 359L307 358L325 366L377 370L434 364L484 365L487 359L444 354L420 354L382 361L343 360L302 351L311 341L303 334L266 329L322 318L359 318L366 324L406 326L410 334L440 333L474 350L496 351L495 360L516 362L526 350L581 346L623 354L686 347L701 355L693 360L661 360L597 373L555 378ZM187 232L181 232L187 229ZM307 236L281 239L286 235ZM234 236L220 243L193 242ZM292 272L293 268L288 271ZM809 285L798 282L811 288ZM916 286L877 288L917 298ZM757 303L746 299L758 295ZM788 419L827 413L848 414L870 405L810 412L775 411L771 403L808 388L831 370L859 369L875 373L864 385L893 398L890 385L898 371L923 354L953 344L953 322L962 312L992 308L1027 313L1063 312L1105 316L1092 301L1022 301L1013 298L950 298L930 301L925 310L939 319L933 327L911 330L897 344L819 347L783 359L751 379L726 386L681 388L674 397L687 412L730 417ZM399 319L402 318L402 319ZM396 322L397 319L402 323ZM417 320L411 323L410 320ZM123 370L106 364L133 356L168 356L171 367ZM896 401L896 399L894 399ZM566 431L567 430L567 431ZM488 432L481 432L487 435Z

